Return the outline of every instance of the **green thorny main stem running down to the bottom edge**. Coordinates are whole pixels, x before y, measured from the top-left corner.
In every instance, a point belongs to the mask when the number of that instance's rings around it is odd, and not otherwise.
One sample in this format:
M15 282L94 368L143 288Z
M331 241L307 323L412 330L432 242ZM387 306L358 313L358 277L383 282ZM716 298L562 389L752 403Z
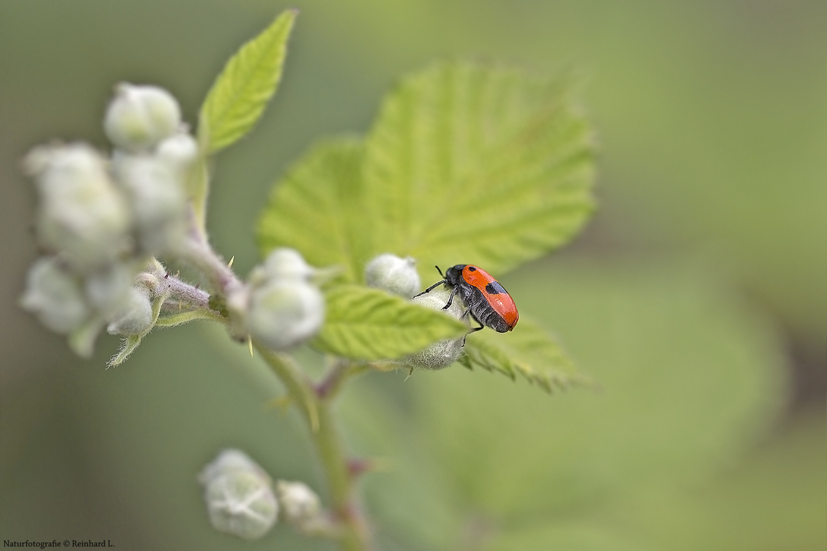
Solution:
M255 343L254 343L255 344ZM354 477L342 447L342 438L331 411L330 398L335 393L320 395L294 360L255 344L261 356L284 383L290 397L308 421L313 444L322 463L331 508L342 524L339 543L344 551L369 551L370 534L361 508L356 501Z

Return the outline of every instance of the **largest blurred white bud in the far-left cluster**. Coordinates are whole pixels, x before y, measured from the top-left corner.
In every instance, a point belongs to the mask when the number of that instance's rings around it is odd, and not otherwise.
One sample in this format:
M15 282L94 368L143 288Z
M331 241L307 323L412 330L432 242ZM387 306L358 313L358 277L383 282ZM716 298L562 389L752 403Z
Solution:
M43 245L62 251L77 271L108 263L129 243L131 216L97 151L85 144L39 146L24 168L41 202L37 230Z

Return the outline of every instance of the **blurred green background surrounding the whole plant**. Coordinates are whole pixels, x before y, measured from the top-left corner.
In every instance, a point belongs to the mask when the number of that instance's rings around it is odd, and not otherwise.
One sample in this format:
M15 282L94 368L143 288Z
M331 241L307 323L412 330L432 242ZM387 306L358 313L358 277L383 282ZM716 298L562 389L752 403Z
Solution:
M208 525L195 474L222 447L321 486L246 349L193 324L104 371L112 337L84 362L17 307L36 258L22 154L106 147L119 80L170 89L194 122L225 59L291 6L278 97L218 159L209 229L241 273L291 160L365 131L432 59L573 64L600 133L595 219L501 279L600 392L457 366L358 380L340 406L351 449L390 466L364 483L382 549L827 548L827 3L803 0L0 1L0 539L333 549Z

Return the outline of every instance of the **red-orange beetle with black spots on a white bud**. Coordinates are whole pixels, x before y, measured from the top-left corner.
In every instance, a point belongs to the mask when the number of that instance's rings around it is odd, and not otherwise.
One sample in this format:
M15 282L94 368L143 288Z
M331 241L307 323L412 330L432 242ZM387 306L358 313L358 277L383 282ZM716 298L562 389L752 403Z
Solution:
M448 297L448 302L442 307L442 310L451 307L454 295L458 292L462 302L465 302L466 305L466 311L460 319L471 316L480 324L471 332L479 331L487 325L495 331L505 333L513 330L514 325L517 325L519 314L517 313L517 306L514 305L514 300L509 292L500 285L500 282L491 277L490 273L472 264L457 264L445 270L444 275L442 275L439 266L435 266L435 268L442 276L442 280L420 292L417 297L426 292L431 292L442 283L445 283L448 287L451 287L451 296Z

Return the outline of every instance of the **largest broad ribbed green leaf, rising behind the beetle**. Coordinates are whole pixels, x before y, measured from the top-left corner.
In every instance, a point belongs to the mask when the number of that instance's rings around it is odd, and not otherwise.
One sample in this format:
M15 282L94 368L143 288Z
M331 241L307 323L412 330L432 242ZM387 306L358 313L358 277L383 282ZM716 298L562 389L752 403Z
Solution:
M594 145L568 88L468 63L405 78L366 142L373 252L503 273L571 240L593 208Z

